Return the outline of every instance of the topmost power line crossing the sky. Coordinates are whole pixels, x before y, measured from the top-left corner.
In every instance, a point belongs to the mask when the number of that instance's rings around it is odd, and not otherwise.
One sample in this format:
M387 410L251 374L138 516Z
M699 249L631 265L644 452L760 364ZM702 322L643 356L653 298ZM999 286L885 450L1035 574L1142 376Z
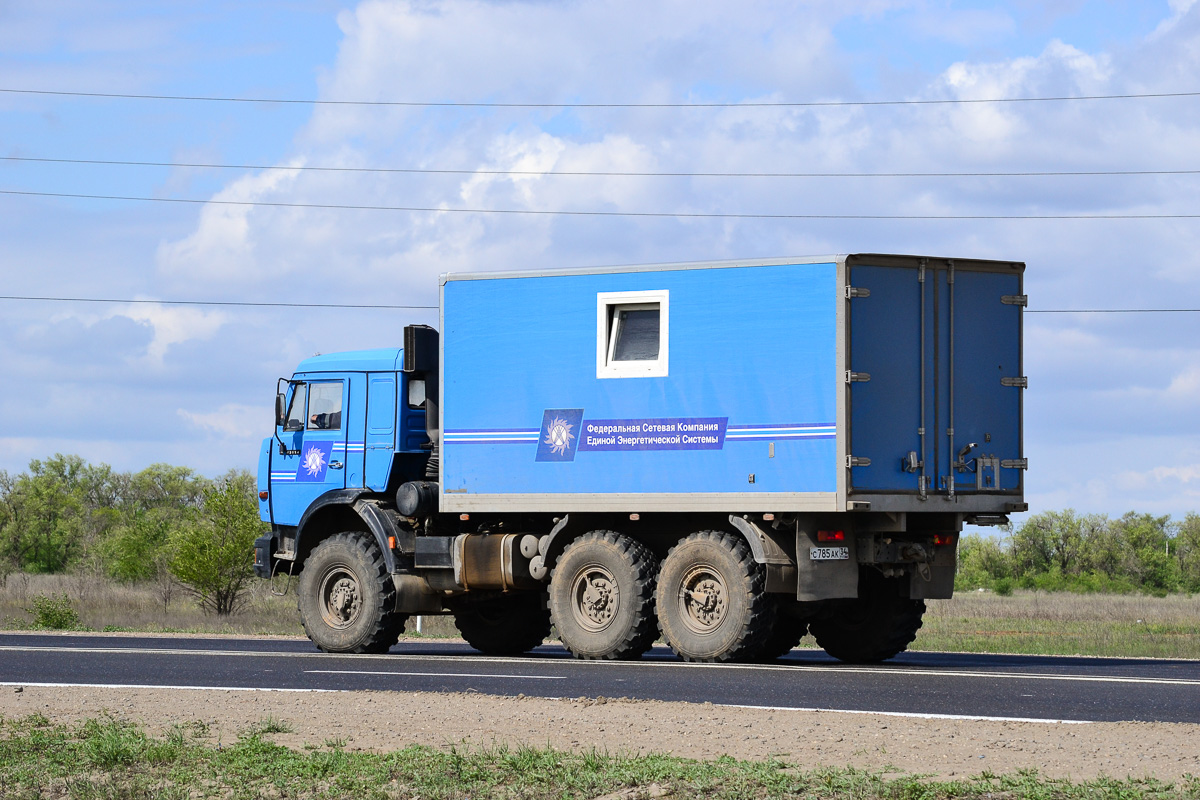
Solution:
M1151 100L1198 97L1200 91L1138 92L1123 95L1058 95L1046 97L972 97L944 100L817 100L800 102L712 102L712 103L499 103L457 101L396 100L312 100L287 97L218 97L210 95L134 95L103 91L53 91L48 89L6 89L11 95L49 95L55 97L98 97L106 100L172 100L208 103L278 103L289 106L384 106L401 108L841 108L868 106L959 106L971 103L1048 103L1079 100Z

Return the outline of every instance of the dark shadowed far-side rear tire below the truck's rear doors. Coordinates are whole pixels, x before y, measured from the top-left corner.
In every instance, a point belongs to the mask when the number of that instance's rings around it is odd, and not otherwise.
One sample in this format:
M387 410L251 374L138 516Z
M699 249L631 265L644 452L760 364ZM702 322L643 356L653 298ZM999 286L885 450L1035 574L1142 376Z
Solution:
M864 569L856 600L833 601L809 622L817 644L847 663L886 661L906 650L920 630L925 601L900 596L902 581Z

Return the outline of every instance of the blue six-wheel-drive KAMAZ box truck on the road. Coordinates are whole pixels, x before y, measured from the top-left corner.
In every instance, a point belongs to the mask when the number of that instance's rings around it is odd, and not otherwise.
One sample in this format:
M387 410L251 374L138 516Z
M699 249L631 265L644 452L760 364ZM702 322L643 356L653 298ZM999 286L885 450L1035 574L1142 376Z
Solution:
M262 578L317 648L875 662L1024 501L1025 264L893 254L440 277L438 326L281 378Z

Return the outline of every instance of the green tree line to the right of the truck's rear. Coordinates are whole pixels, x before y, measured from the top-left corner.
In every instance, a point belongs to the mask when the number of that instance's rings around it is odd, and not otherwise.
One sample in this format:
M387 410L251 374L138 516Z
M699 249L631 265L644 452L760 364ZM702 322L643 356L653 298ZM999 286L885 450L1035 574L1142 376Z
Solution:
M1172 521L1130 511L1111 519L1067 509L1033 515L1001 533L962 537L958 590L1200 593L1196 513Z

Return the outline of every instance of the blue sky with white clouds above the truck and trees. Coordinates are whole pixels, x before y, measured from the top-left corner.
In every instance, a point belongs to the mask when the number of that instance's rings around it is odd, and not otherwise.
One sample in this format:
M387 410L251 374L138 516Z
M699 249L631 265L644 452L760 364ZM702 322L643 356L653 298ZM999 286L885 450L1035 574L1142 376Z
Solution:
M0 193L0 294L433 306L449 271L911 252L1025 261L1030 312L1200 308L1200 218L1170 218L1200 213L1200 96L761 106L1198 74L1195 0L0 0L0 190L42 193ZM1018 172L1141 174L695 175ZM253 469L277 378L410 323L436 313L0 300L0 469ZM1033 511L1200 511L1200 314L1027 313L1025 348Z

